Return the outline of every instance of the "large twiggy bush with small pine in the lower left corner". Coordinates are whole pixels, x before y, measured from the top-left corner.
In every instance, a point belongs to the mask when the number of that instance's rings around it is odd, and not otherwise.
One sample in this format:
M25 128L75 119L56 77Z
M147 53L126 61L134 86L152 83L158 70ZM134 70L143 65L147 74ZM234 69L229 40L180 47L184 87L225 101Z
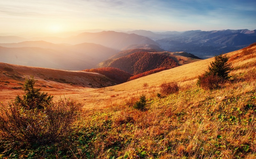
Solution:
M23 99L18 96L8 106L1 104L2 140L26 146L47 145L71 133L72 123L76 120L81 104L66 98L52 102L52 96L40 93L34 88L34 83L33 78L26 80L24 87L27 94Z

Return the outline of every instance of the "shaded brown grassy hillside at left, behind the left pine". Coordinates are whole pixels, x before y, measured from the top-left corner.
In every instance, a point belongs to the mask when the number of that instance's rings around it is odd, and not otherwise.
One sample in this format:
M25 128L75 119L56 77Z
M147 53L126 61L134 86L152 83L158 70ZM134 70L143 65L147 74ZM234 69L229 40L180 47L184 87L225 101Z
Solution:
M11 94L15 95L16 92L22 91L25 78L30 75L37 80L36 87L41 87L45 91L51 90L55 92L53 94L59 94L61 91L77 92L84 87L99 88L116 85L116 82L99 73L0 63L0 101L9 100Z

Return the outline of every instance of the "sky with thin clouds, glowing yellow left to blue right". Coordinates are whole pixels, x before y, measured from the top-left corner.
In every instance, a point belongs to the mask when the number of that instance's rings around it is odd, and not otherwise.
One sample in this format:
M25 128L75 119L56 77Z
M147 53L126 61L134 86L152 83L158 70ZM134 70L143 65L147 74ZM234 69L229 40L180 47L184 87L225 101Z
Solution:
M256 29L255 0L0 0L0 33Z

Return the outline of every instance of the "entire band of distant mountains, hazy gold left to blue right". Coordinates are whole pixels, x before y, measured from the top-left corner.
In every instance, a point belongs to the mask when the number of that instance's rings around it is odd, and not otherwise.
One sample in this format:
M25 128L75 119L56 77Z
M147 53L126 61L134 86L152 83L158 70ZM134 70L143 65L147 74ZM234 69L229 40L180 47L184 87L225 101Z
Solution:
M256 30L248 29L163 33L145 30L126 33L102 31L84 32L66 38L0 36L0 62L84 70L96 68L97 64L109 59L113 61L115 58L127 56L131 54L131 49L187 52L205 59L244 48L253 42L256 42ZM119 52L121 50L124 52ZM125 52L126 50L129 51ZM181 64L177 60L176 62Z

